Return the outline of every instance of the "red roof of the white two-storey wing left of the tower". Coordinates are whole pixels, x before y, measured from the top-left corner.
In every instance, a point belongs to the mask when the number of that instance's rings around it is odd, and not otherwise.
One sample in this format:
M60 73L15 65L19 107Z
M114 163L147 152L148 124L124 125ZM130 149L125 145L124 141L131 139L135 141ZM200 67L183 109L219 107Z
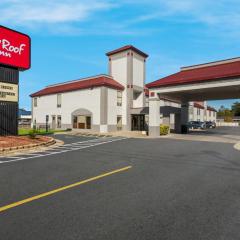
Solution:
M93 87L109 87L117 90L124 90L124 87L115 81L112 77L107 75L99 75L95 77L91 77L88 79L80 79L76 81L66 82L62 84L48 86L38 92L31 94L31 97L44 96L49 94L63 93L76 91L80 89L88 89Z

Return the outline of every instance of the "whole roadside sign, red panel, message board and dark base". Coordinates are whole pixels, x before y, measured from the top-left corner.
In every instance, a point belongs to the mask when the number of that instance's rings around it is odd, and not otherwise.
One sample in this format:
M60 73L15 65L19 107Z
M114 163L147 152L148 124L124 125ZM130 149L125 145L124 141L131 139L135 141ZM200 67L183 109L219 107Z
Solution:
M18 73L30 67L30 37L0 25L0 136L18 134Z

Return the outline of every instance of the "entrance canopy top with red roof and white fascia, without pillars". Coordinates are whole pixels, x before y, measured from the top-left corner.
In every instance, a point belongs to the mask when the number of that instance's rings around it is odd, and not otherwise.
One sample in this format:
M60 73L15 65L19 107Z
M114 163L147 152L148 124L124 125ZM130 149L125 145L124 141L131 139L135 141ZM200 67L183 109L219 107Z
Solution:
M160 95L180 102L240 98L240 58L183 67L147 88L150 98Z

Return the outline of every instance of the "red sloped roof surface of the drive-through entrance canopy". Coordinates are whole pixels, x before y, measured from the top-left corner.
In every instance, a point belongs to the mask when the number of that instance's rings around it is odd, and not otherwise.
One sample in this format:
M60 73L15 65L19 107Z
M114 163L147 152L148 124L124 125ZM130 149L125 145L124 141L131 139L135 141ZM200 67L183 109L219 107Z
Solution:
M233 62L219 63L212 66L200 66L182 70L173 75L164 77L147 84L147 88L157 88L169 85L180 85L204 81L214 81L240 76L240 60Z

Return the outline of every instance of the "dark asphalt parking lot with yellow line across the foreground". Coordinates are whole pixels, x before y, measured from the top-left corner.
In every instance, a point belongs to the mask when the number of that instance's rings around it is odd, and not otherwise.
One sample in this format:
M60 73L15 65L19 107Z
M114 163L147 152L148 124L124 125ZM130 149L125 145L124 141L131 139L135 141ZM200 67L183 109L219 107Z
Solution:
M0 159L1 239L239 238L233 144L57 138L55 153Z

